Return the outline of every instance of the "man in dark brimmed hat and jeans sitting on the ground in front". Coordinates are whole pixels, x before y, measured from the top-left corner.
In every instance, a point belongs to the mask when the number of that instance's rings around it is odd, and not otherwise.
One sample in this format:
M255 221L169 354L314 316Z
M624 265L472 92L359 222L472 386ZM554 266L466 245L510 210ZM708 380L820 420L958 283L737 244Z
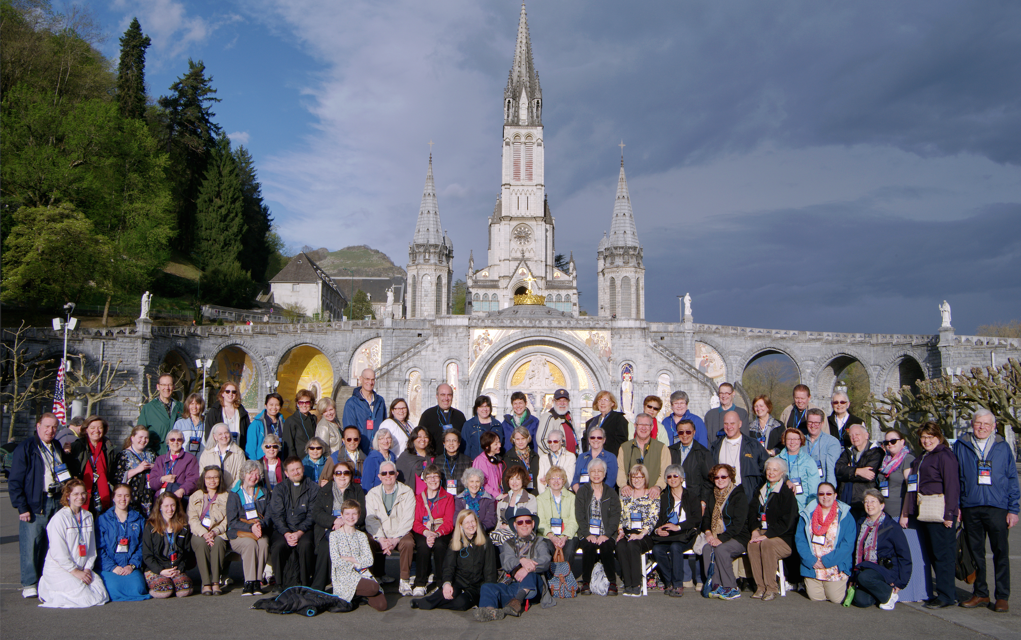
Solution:
M552 544L535 534L537 516L527 507L507 511L507 519L514 523L517 535L503 543L500 569L510 576L513 582L482 585L475 620L483 623L502 620L505 616L521 616L525 601L537 595L542 596L543 602L551 601L548 589L544 588L546 579L543 576L553 557Z

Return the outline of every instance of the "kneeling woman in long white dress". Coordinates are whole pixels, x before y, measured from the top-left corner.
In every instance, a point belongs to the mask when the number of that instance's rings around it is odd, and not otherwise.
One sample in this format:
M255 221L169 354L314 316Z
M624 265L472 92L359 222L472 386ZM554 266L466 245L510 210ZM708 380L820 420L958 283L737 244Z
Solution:
M57 511L46 526L50 547L39 580L39 606L80 608L105 604L109 599L96 563L96 534L92 513L83 508L89 499L78 479L63 486Z

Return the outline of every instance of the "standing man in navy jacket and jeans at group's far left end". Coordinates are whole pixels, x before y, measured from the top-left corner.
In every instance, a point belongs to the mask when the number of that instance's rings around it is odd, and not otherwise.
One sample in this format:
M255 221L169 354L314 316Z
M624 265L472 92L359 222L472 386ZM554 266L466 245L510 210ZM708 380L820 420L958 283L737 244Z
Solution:
M48 539L46 525L60 508L60 492L70 472L63 449L54 440L59 422L53 413L43 413L36 433L14 449L7 488L10 503L17 509L17 544L21 563L21 597L39 595L37 585L43 573Z

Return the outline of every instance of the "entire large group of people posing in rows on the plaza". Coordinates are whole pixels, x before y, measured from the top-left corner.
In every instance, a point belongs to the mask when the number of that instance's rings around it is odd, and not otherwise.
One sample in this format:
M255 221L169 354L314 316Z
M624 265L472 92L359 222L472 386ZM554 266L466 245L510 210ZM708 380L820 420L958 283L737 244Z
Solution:
M567 574L578 595L732 600L746 587L769 602L797 588L887 610L1009 610L1021 491L988 410L953 445L923 425L913 450L898 430L872 441L846 394L827 415L804 385L779 420L769 397L749 415L724 383L701 417L683 391L662 421L658 396L629 420L600 391L597 412L576 423L563 389L538 415L516 392L500 421L487 396L466 417L441 384L415 426L407 402L387 405L375 381L362 373L341 423L305 389L290 416L271 393L249 419L236 384L206 409L199 395L174 400L163 376L119 446L98 415L64 442L44 413L9 480L22 595L48 607L217 596L239 556L241 595L304 586L384 610L383 585L397 582L412 608L475 608L482 622L553 604L554 577L556 597L572 595ZM958 523L976 565L962 602Z

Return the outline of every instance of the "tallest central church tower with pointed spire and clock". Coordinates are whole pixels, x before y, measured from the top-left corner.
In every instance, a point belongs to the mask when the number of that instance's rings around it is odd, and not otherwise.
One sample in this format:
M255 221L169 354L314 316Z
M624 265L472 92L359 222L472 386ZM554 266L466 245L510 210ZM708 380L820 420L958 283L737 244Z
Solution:
M469 267L471 313L495 311L514 304L525 293L526 278L535 279L532 292L546 305L578 314L578 284L574 267L553 266L553 216L546 201L545 147L542 131L542 89L532 62L525 5L521 7L514 62L503 91L502 181L489 218L487 263Z

